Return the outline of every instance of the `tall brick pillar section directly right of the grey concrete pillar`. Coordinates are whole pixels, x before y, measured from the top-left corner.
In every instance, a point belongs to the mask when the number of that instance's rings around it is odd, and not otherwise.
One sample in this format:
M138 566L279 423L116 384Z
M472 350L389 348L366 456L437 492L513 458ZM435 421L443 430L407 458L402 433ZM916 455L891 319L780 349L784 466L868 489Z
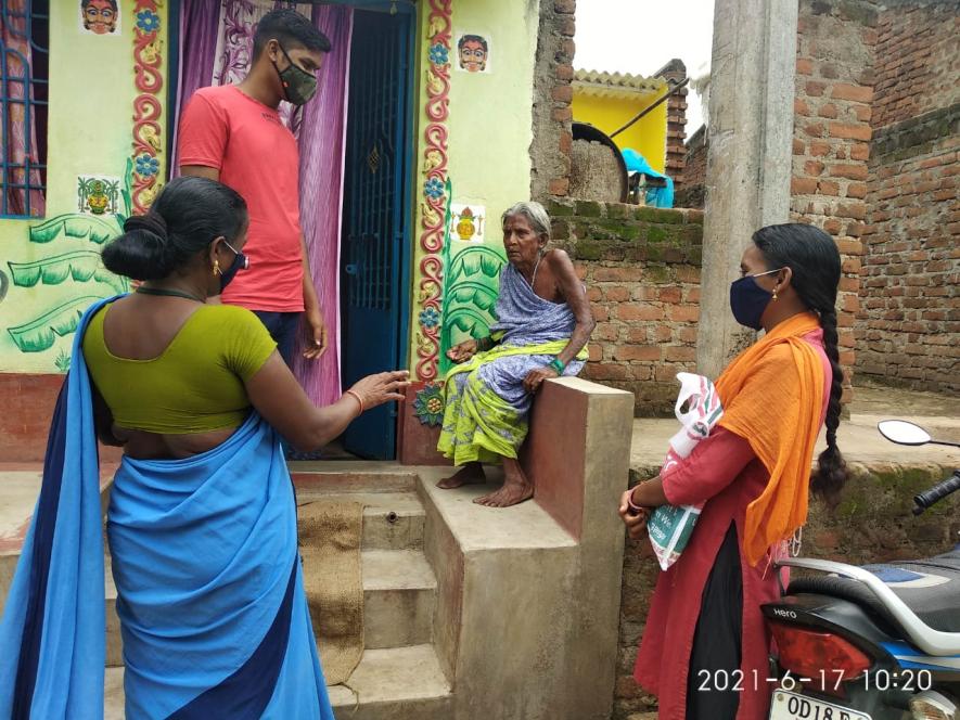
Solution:
M841 364L855 361L873 100L876 12L863 0L801 0L790 216L836 240Z

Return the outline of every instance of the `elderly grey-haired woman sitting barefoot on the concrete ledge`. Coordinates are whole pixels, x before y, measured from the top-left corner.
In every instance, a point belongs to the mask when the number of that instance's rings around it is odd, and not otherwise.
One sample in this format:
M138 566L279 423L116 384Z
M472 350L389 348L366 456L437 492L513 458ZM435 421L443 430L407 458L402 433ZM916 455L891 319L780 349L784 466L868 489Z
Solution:
M569 256L547 249L550 218L539 203L503 214L509 265L500 275L490 336L469 339L447 356L459 363L446 380L437 449L462 467L440 488L484 483L481 463L503 463L503 487L475 502L505 507L534 494L517 461L534 394L550 377L576 375L596 322Z

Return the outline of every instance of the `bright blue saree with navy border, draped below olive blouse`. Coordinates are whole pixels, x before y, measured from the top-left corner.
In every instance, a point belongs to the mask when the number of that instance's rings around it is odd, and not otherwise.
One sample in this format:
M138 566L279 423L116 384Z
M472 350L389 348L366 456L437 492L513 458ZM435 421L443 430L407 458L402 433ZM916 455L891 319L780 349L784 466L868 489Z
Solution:
M0 718L103 717L103 531L90 380L74 342L43 484L0 623ZM125 458L107 536L129 718L333 720L293 486L256 413L185 459Z

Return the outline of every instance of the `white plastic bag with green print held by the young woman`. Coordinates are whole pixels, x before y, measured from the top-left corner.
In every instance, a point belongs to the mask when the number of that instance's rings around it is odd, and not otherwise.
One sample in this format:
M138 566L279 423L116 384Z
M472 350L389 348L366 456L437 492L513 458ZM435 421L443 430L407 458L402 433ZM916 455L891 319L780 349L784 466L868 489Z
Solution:
M693 452L696 443L711 434L724 416L724 408L714 384L703 375L678 373L680 394L674 413L682 427L670 438L670 447L661 468L661 477L677 471ZM650 515L647 531L660 566L667 569L687 547L703 505L661 505Z

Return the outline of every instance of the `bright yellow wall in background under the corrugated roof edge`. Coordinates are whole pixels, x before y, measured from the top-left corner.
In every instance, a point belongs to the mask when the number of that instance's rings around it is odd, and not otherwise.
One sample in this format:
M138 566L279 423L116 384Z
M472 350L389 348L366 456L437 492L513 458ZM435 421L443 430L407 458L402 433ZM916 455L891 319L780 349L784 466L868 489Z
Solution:
M666 82L656 92L630 98L598 98L574 88L573 114L577 123L589 123L606 134L615 132L644 107L666 92ZM624 130L613 141L620 150L632 147L658 172L664 171L667 155L667 103Z

